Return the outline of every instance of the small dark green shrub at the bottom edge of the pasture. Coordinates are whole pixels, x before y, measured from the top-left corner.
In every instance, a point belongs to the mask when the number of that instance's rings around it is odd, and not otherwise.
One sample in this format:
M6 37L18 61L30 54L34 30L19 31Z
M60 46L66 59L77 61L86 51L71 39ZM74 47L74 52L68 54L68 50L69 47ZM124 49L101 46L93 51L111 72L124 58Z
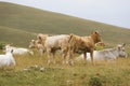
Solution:
M102 82L98 76L92 76L89 81L89 86L102 86Z

